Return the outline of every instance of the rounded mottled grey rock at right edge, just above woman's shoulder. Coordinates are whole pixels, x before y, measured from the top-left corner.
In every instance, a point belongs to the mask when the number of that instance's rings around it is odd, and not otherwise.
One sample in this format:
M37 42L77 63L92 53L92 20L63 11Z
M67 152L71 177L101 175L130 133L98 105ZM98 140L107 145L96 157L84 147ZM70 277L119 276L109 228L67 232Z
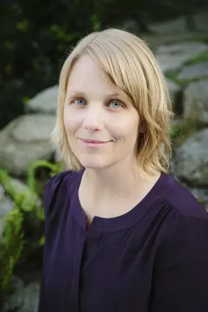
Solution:
M208 186L208 129L192 135L176 150L177 176L195 187Z

